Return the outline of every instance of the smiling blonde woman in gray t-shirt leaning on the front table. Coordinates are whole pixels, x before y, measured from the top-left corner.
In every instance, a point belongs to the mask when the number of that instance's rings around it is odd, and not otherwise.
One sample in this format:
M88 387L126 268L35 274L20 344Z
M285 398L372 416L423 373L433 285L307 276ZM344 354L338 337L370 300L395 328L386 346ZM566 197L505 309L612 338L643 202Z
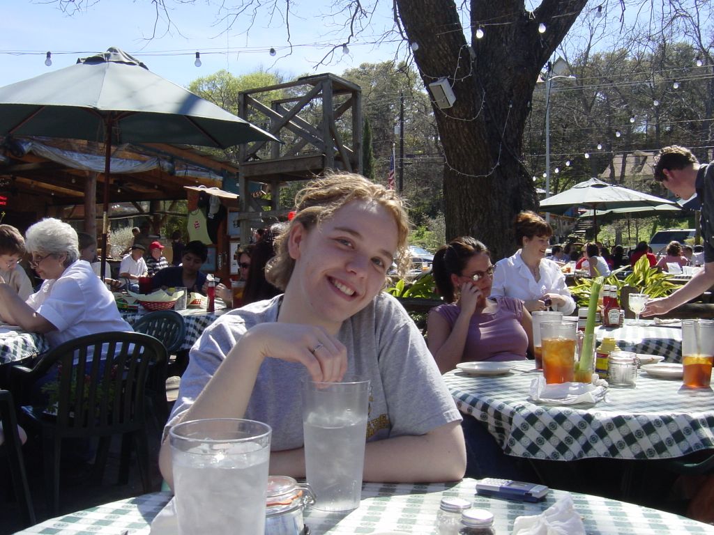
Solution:
M271 474L304 477L301 379L370 379L363 479L461 479L456 404L416 325L382 292L393 260L406 270L407 236L393 191L351 174L308 183L266 267L283 295L229 312L203 333L167 429L188 419L261 420L273 429ZM171 483L166 435L159 462Z

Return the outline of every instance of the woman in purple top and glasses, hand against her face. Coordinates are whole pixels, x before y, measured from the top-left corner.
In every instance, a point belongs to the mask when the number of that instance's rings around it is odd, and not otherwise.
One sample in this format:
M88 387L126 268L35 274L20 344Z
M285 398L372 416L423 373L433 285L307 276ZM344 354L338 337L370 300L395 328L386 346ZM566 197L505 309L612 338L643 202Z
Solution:
M445 301L429 312L428 345L441 373L458 362L525 360L533 349L531 313L513 297L490 297L493 265L486 245L462 236L444 245L432 264Z

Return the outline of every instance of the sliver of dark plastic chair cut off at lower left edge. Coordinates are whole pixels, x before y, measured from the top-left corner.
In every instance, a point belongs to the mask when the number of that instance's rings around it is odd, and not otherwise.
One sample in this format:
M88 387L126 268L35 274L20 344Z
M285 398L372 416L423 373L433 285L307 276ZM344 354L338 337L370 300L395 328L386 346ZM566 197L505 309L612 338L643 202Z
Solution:
M20 505L22 521L26 526L36 524L35 511L32 507L32 497L27 484L25 462L22 457L22 443L17 432L17 418L12 402L12 394L0 390L0 422L2 422L4 442L0 452L4 452L9 461L10 479L15 492L15 498Z

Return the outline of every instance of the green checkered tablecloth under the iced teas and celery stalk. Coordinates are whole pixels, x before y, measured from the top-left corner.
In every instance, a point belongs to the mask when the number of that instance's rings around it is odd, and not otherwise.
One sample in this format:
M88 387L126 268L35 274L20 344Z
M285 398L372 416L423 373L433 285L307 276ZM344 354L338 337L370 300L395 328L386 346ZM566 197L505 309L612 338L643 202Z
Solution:
M594 457L668 459L714 448L714 392L639 373L637 387L610 388L594 406L528 401L533 361L501 377L444 374L458 408L488 425L506 454L570 461Z

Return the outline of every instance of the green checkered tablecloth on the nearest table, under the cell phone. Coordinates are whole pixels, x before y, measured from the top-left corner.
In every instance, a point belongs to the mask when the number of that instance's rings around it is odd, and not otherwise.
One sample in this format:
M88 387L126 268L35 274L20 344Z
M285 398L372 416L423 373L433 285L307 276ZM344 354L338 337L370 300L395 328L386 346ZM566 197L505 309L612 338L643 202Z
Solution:
M550 491L545 501L526 504L518 501L475 496L476 480L458 484L366 483L358 509L348 514L307 510L305 522L312 535L373 534L396 530L405 534L433 535L436 513L442 496L461 496L473 506L488 509L495 516L496 533L510 534L516 516L539 514L553 505L563 491ZM571 493L575 509L583 517L585 531L598 534L714 534L708 526L682 516L648 509L621 501ZM149 534L149 524L169 501L169 494L146 494L58 516L21 531L21 534L129 535ZM270 535L270 534L266 534Z

